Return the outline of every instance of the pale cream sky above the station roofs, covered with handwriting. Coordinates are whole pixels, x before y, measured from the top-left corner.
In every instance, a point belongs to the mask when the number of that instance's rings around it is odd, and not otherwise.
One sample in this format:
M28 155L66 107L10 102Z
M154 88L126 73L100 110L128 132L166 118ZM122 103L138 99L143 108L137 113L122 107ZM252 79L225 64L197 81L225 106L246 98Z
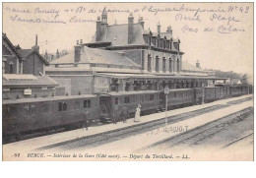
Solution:
M253 75L252 3L3 3L3 32L22 48L31 48L38 34L40 52L72 50L76 40L92 40L96 22L88 21L96 21L104 8L109 25L127 24L133 12L135 23L144 18L145 30L171 26L183 61Z

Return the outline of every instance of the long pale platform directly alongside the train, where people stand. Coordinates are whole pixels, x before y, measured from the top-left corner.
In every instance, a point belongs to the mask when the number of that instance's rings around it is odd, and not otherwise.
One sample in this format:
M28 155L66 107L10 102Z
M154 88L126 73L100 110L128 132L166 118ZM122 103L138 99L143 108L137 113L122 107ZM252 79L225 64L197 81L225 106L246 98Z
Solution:
M134 122L134 119L128 119L127 123L118 122L115 125L114 124L106 124L106 125L100 125L100 126L96 126L96 127L89 127L88 131L86 129L77 129L77 130L67 131L67 132L63 132L63 133L57 133L57 134L52 134L52 135L48 135L48 136L33 138L33 139L21 141L21 142L3 145L3 152L5 152L5 153L6 152L16 152L17 150L19 150L19 152L28 152L28 151L32 151L36 148L42 148L42 147L46 147L49 145L62 143L65 141L70 141L70 140L75 140L78 138L84 138L84 137L96 135L96 134L99 134L102 132L113 131L116 129L121 129L121 128L129 127L129 126L133 126L133 125L137 125L137 124L141 124L141 123L145 123L145 122L150 122L153 120L158 120L160 118L164 118L166 115L168 117L170 117L170 116L183 114L183 113L190 112L190 111L207 108L207 107L214 106L214 105L226 104L227 102L230 102L230 101L239 100L239 99L252 97L252 96L253 96L252 94L248 94L248 95L243 95L243 96L239 96L239 97L232 97L232 98L217 100L217 101L206 103L203 105L202 104L201 105L193 105L193 106L183 107L183 108L179 108L179 109L175 109L175 110L169 110L169 111L167 111L167 114L165 112L160 112L160 113L154 113L151 115L141 116L141 121L139 123ZM252 103L252 101L249 101L249 102ZM229 111L229 112L233 111L231 109L231 107L239 108L239 104L227 107L226 111ZM216 112L218 113L218 110ZM211 116L211 113L208 113L209 117ZM203 118L205 118L205 117L206 116L204 116ZM196 121L192 121L193 118L191 118L189 120L190 120L190 122L196 123Z

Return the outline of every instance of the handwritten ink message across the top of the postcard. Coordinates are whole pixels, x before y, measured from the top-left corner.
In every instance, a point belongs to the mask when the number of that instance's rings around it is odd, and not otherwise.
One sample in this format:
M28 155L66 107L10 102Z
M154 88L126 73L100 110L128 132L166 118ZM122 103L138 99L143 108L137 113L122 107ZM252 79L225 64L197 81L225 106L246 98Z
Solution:
M109 8L104 7L100 9L88 8L86 6L77 6L73 8L13 8L5 7L4 10L9 12L9 20L13 23L31 23L31 24L81 24L81 23L95 23L96 19L87 18L87 14L99 14L106 12L109 14L127 14L130 12L148 13L154 14L168 14L169 18L173 21L183 25L180 29L182 32L219 32L222 34L228 34L233 32L244 32L245 29L241 26L243 22L243 16L246 16L250 12L250 6L237 6L229 5L219 7L190 7L189 4L169 4L168 7L160 8L158 5L147 4L142 7L135 7L134 9L128 9L126 7L121 8ZM88 16L89 17L89 16ZM209 23L213 23L209 25ZM208 27L202 25L207 24ZM200 26L199 26L200 25Z

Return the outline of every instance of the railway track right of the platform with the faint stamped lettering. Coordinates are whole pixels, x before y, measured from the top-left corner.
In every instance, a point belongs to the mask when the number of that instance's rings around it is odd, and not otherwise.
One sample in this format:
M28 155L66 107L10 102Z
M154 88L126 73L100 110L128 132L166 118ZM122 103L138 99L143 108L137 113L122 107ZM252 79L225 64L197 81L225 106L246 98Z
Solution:
M248 117L250 114L252 114L252 112L253 112L252 107L245 108L241 111L232 113L228 116L225 116L223 118L210 122L204 126L197 127L189 132L181 133L178 136L168 138L166 140L160 141L159 143L155 143L154 145L151 145L147 148L193 147L194 145L197 145L200 141L203 141L217 134L218 132L221 132L229 125L242 121L243 119ZM241 138L240 140L244 138ZM239 140L235 142L238 142L238 141ZM235 142L230 143L229 145L232 145Z

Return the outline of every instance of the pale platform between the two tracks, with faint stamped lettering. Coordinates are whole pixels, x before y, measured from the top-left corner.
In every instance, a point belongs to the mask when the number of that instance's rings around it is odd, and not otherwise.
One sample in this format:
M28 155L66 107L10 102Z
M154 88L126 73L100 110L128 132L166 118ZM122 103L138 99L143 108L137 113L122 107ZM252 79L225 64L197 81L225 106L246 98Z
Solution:
M241 111L247 107L253 106L253 101L245 101L239 104L231 105L229 107L222 108L213 112L202 114L193 118L189 118L184 121L166 125L159 129L149 131L140 135L132 136L126 139L122 139L116 142L112 142L96 148L88 148L87 152L130 152L130 153L143 153L147 150L147 153L162 152L164 148L151 148L156 143L162 142L171 137L175 137L181 133L196 129L204 126L210 122L230 115L231 113ZM180 132L173 132L177 128L182 128ZM83 151L83 148L76 149ZM173 149L171 149L173 151Z

